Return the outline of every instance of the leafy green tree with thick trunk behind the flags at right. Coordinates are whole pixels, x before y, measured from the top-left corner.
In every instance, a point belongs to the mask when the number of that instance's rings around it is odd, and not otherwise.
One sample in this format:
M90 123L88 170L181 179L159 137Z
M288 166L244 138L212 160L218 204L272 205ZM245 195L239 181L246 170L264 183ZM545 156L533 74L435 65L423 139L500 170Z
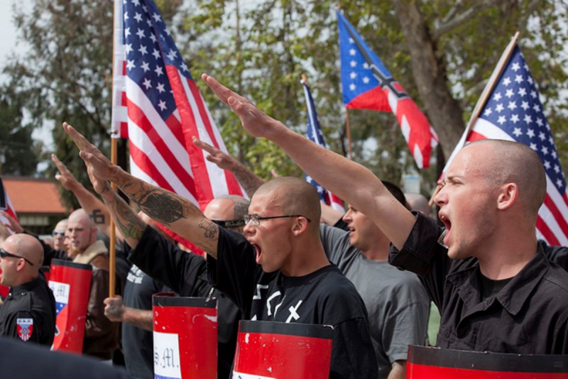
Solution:
M302 131L305 106L300 74L307 72L327 141L345 153L345 123L338 67L337 21L331 1L195 1L186 21L192 35L187 56L192 68L216 75L255 99L262 109ZM532 75L546 99L561 99L566 89L566 5L559 1L344 1L342 11L368 45L386 62L439 133L443 154L452 152L485 80L515 31ZM214 101L207 90L205 94ZM209 103L214 104L214 103ZM226 109L223 131L236 121ZM566 101L547 101L547 116L565 147ZM398 182L413 165L396 121L390 114L350 111L354 159L381 177ZM240 141L240 156L257 165L273 156L265 147ZM373 143L376 141L376 143ZM239 149L239 147L236 147ZM265 153L266 155L261 155ZM568 152L562 151L566 170ZM288 166L287 166L288 167ZM291 170L291 169L290 169ZM430 183L432 170L422 172Z

